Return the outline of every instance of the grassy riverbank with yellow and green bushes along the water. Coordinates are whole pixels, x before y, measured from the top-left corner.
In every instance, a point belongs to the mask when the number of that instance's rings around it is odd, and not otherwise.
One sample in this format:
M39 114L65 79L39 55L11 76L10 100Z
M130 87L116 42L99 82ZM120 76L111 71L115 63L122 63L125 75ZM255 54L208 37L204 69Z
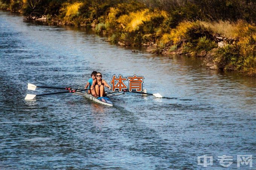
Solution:
M143 2L143 3L142 3ZM113 44L205 57L204 66L256 76L254 1L0 0L28 20L93 27Z

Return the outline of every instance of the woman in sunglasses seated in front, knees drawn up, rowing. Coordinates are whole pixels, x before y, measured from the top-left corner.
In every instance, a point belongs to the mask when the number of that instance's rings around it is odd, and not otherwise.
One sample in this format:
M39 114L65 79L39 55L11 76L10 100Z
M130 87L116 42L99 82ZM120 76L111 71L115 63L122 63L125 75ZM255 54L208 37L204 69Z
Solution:
M102 74L100 72L98 72L96 74L96 79L93 80L93 84L91 85L91 91L93 91L96 94L92 94L94 97L103 97L106 95L105 90L104 90L104 86L108 87L108 89L111 90L111 87L108 85L108 83L102 79Z

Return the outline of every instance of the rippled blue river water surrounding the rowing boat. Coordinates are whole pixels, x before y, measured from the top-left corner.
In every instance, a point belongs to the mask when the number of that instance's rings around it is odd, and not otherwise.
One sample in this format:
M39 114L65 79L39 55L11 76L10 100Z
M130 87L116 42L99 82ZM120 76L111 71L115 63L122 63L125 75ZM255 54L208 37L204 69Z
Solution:
M204 155L213 158L207 169L222 169L218 156L233 156L229 168L237 155L256 156L254 78L202 68L198 58L135 51L0 12L0 169L206 169L198 165ZM126 93L113 107L71 94L24 100L59 91L29 91L27 83L84 87L93 70L107 82L142 75L143 88L165 98Z

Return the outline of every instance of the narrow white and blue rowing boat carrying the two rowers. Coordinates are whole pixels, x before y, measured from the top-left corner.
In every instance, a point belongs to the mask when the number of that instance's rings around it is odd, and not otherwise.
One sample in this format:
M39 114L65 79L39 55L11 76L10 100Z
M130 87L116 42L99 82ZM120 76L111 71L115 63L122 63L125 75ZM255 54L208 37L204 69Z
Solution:
M113 94L116 92L109 92L107 93L108 96L117 96L117 95L122 95L124 93L117 93L117 94ZM84 98L90 99L94 102L100 103L100 104L104 104L104 105L108 105L108 106L113 106L113 103L110 101L110 98L108 97L94 97L91 94L88 94L86 92L75 92L73 93L73 95L79 95L79 96L83 96Z

